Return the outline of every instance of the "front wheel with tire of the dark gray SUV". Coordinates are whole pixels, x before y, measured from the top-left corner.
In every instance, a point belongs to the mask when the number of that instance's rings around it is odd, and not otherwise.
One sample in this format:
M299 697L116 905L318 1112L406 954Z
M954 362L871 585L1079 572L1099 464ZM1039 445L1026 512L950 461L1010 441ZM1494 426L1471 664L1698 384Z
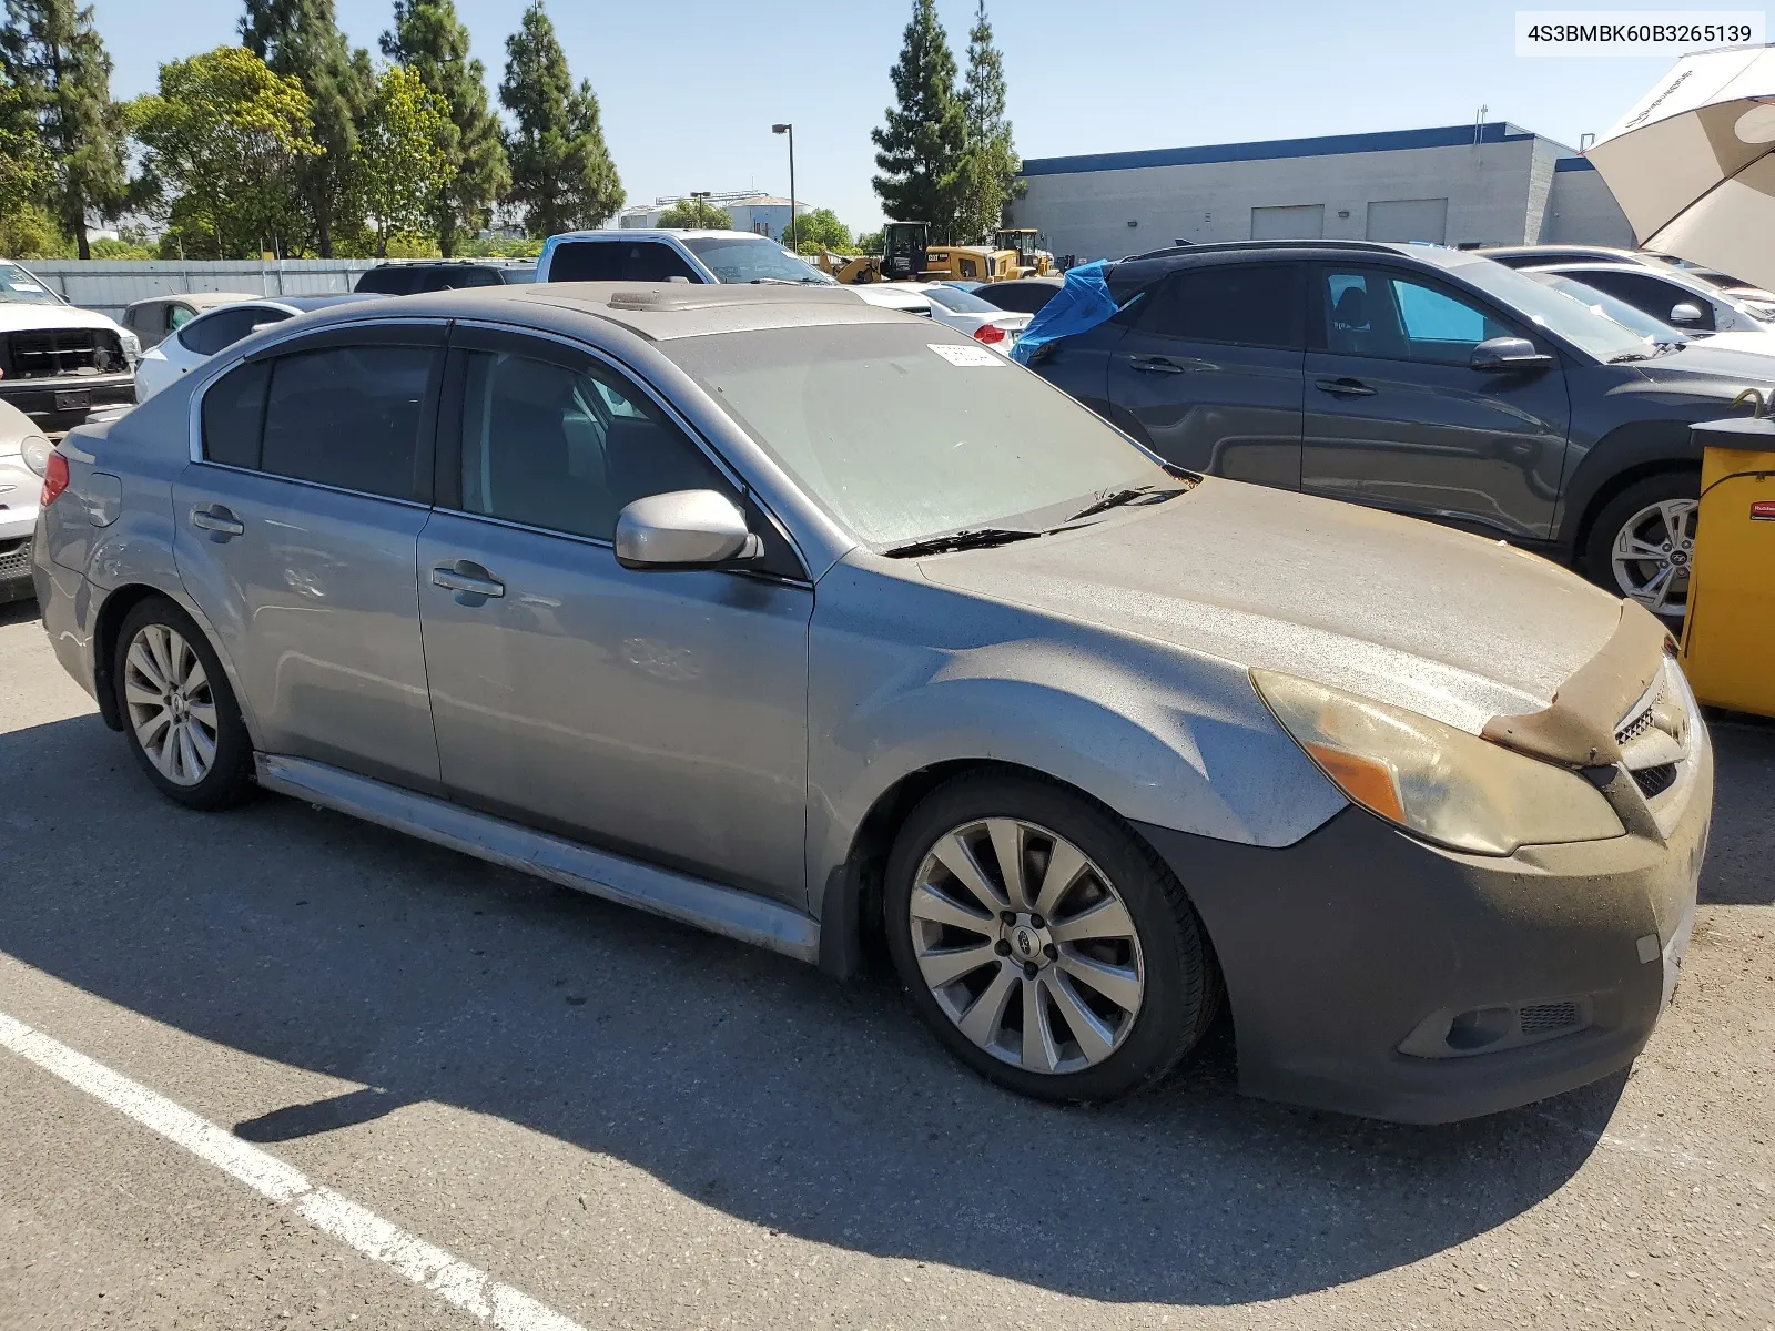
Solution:
M1695 557L1700 477L1665 472L1635 481L1598 515L1585 548L1590 579L1681 625Z

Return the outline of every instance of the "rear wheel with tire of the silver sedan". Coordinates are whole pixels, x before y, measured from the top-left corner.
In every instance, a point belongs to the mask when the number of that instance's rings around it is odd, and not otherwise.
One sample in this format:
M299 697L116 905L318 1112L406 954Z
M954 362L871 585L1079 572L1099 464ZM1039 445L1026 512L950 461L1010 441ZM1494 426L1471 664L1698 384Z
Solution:
M163 795L220 809L250 793L247 726L222 662L185 610L162 596L130 610L112 680L130 752Z

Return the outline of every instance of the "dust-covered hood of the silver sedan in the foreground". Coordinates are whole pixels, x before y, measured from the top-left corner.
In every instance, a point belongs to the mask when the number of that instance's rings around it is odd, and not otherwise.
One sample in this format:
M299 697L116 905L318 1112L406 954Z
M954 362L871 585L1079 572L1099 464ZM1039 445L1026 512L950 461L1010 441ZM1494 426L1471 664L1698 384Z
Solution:
M925 559L921 571L1475 735L1496 715L1548 708L1622 623L1613 596L1498 541L1216 479L1097 527Z

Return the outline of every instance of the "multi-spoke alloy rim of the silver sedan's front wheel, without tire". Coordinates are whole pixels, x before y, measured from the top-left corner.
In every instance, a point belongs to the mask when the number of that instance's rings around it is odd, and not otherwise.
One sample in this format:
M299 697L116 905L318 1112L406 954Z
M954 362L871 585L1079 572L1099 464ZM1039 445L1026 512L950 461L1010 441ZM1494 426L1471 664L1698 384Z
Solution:
M907 925L937 1006L1012 1067L1093 1067L1140 1015L1147 973L1127 905L1085 852L1037 823L983 818L939 836Z

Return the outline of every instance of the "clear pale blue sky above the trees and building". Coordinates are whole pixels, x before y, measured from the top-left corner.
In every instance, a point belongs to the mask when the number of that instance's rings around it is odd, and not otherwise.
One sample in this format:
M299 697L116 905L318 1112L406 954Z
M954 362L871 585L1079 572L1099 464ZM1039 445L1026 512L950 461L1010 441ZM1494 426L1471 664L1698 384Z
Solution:
M488 83L524 0L456 0ZM987 0L1005 51L1017 149L1030 158L1487 119L1576 146L1606 130L1668 60L1518 59L1516 4L1496 0ZM1525 0L1546 4L1551 0ZM1573 4L1573 0L1564 0ZM1622 0L1613 0L1622 4ZM389 0L337 0L376 51ZM1663 9L1700 9L1663 0ZM114 96L149 91L162 60L236 41L238 0L96 0ZM797 195L873 227L870 130L882 121L911 0L556 0L575 78L589 78L630 202L689 190ZM973 0L939 0L957 62Z

